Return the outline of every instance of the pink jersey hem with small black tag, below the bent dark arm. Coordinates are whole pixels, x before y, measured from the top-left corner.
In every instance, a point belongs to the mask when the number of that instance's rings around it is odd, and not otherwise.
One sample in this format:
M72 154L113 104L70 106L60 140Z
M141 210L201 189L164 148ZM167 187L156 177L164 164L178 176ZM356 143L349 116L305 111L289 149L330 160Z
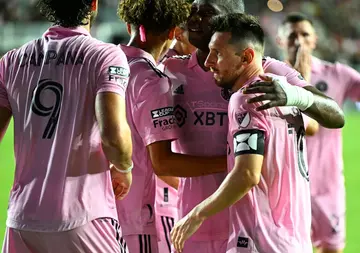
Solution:
M172 217L177 220L178 192L173 187L156 178L156 215Z

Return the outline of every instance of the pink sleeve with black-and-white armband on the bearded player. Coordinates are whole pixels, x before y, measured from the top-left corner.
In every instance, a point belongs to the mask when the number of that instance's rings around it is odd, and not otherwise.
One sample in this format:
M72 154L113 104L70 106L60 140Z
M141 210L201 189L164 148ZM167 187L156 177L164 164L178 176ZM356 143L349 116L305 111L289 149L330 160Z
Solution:
M234 155L264 155L269 129L265 116L256 111L256 104L246 102L249 95L243 95L241 91L234 95L230 99L229 115L229 134L233 136Z

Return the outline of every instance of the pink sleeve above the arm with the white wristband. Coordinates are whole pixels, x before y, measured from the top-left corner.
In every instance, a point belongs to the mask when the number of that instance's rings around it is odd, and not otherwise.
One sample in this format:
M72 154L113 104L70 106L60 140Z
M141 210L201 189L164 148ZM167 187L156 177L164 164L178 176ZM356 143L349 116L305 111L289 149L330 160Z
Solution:
M263 68L265 73L286 77L289 84L299 87L309 86L302 75L285 62L267 57L264 59Z

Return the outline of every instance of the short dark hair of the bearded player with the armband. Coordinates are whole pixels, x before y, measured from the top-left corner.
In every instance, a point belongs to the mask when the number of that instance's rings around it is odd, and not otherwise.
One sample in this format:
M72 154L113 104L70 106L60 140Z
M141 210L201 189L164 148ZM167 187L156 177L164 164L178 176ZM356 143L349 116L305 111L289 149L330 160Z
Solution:
M251 42L254 49L263 53L265 34L258 19L245 13L218 15L210 20L212 31L230 32L231 43Z

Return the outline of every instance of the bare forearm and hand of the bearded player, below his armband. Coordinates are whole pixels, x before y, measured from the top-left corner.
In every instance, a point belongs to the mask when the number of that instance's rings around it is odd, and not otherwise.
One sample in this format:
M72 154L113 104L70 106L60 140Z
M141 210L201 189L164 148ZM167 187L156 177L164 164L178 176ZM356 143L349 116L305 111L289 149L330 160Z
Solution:
M252 153L236 152L234 168L218 190L175 224L171 231L171 240L177 251L182 251L185 241L199 229L207 218L235 204L260 182L264 159L263 133L257 131L259 136L257 150ZM236 135L241 135L241 133L235 134L234 141L236 141Z

